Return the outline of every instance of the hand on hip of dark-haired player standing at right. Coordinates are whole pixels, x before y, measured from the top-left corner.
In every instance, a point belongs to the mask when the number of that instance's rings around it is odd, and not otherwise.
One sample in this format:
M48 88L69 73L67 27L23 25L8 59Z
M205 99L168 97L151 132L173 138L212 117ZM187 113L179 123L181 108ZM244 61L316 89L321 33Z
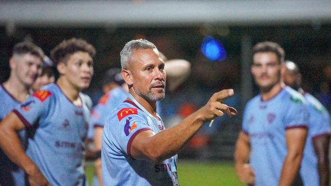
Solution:
M250 164L237 166L236 173L241 182L249 185L255 184L255 173Z

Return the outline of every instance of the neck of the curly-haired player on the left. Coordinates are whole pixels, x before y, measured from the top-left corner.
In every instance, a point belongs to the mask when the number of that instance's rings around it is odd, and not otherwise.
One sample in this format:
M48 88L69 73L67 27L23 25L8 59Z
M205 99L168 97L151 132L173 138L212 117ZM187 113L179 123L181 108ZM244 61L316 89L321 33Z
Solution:
M63 91L63 94L76 106L80 105L79 92L80 90L73 86L65 78L60 77L57 81L58 86Z

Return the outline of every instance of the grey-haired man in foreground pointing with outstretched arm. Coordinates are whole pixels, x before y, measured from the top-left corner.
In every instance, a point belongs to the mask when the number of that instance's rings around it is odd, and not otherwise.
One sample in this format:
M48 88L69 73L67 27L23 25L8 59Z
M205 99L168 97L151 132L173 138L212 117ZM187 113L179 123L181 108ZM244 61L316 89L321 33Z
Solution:
M206 121L237 113L222 104L233 90L215 93L197 112L164 129L156 101L164 98L166 72L155 45L142 39L128 42L121 51L121 66L129 95L109 114L103 129L103 184L179 185L176 154Z

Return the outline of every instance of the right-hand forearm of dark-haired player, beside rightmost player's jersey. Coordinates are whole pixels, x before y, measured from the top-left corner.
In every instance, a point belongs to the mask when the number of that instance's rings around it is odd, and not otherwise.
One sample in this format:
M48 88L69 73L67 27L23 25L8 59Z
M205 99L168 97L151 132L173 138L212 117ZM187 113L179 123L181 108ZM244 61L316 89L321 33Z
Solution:
M300 167L302 153L288 154L285 158L279 186L289 186L293 183Z

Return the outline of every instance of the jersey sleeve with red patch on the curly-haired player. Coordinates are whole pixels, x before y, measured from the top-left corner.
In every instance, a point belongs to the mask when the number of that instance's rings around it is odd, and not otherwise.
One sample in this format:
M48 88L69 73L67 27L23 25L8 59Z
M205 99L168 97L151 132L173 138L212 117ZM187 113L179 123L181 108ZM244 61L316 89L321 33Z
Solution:
M32 128L38 119L46 114L51 107L52 93L47 90L37 90L23 104L17 106L13 112L19 117L27 129Z

